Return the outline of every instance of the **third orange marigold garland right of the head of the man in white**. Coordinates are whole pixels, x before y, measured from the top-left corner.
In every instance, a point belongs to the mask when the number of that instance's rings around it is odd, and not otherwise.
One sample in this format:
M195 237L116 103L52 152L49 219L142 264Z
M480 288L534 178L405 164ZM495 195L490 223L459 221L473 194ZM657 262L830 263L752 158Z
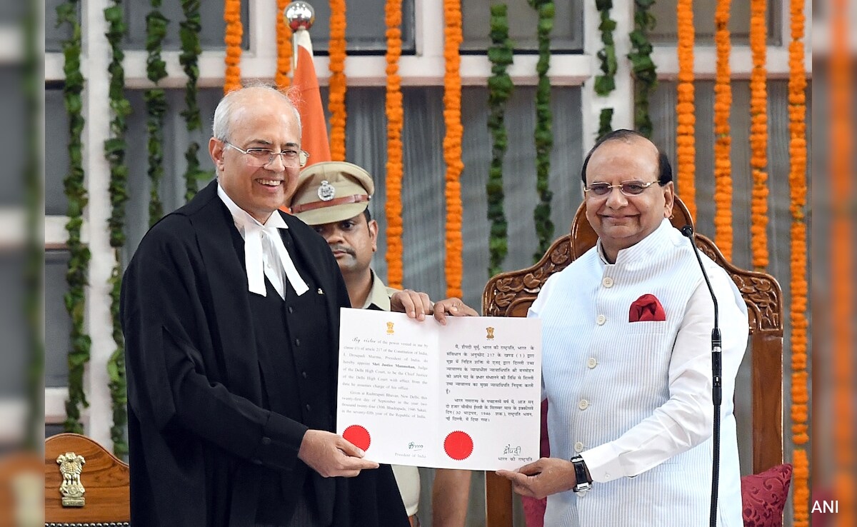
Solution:
M768 91L765 61L767 0L750 0L750 249L752 265L759 271L768 266Z

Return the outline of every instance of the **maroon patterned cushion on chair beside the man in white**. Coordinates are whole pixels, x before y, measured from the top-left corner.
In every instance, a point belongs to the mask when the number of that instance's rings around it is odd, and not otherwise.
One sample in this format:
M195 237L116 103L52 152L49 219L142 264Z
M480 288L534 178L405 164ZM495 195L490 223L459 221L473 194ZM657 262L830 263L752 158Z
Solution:
M779 464L761 474L742 477L744 526L782 527L782 509L786 506L791 483L791 464Z

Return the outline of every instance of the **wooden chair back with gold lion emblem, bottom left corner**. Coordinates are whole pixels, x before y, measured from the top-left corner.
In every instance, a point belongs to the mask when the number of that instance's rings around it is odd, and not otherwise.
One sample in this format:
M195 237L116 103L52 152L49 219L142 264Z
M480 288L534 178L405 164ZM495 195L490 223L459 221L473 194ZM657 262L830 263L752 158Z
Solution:
M45 440L45 525L129 525L128 465L80 434Z

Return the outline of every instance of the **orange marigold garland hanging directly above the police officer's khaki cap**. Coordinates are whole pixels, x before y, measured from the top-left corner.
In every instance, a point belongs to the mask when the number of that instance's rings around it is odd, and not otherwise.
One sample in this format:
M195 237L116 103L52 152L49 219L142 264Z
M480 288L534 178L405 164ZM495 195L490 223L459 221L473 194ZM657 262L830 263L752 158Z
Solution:
M330 0L330 157L345 161L345 0Z

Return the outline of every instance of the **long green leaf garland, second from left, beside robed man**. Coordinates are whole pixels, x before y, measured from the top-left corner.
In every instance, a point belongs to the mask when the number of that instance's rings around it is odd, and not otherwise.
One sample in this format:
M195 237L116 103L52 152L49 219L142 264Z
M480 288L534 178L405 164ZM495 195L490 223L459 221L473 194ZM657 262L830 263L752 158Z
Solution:
M116 263L111 272L111 321L112 336L116 350L107 361L107 374L110 379L113 425L111 440L113 453L124 458L128 454L128 442L125 439L125 426L128 424L128 392L125 380L125 340L122 333L122 320L119 317L119 293L122 290L121 251L125 245L125 203L128 201L128 165L125 164L127 143L125 133L128 130L126 118L131 114L131 104L125 99L125 70L122 62L125 54L122 40L126 32L122 0L113 0L113 5L104 10L107 21L107 42L111 47L111 63L107 67L110 73L110 123L111 136L105 141L105 158L110 164L110 201L111 217L108 219L110 245L113 248Z

